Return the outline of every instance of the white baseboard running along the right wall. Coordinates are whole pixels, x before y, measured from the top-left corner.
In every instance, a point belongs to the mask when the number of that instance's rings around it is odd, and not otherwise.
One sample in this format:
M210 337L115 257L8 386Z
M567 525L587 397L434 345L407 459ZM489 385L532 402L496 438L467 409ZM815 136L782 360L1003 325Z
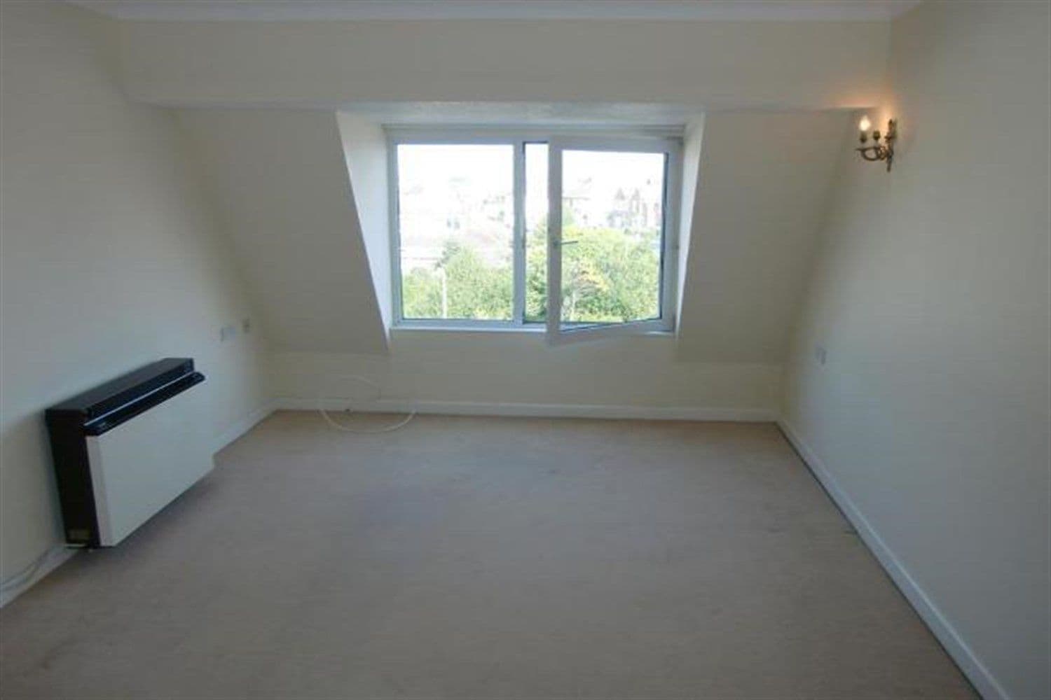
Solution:
M905 566L898 559L894 553L887 547L887 544L877 532L875 528L866 519L858 508L857 504L847 495L846 491L840 488L831 472L825 466L821 458L810 449L809 445L800 437L799 432L792 428L784 418L777 421L778 427L784 433L788 442L791 443L796 451L803 459L803 463L809 468L815 479L821 483L828 495L836 502L843 514L850 521L862 540L869 551L875 556L884 571L890 576L894 585L909 601L912 608L927 624L937 640L952 657L960 670L964 672L974 688L986 700L1010 700L1010 695L1004 686L996 680L988 667L977 658L973 650L967 645L960 633L945 617L927 592L920 587Z

